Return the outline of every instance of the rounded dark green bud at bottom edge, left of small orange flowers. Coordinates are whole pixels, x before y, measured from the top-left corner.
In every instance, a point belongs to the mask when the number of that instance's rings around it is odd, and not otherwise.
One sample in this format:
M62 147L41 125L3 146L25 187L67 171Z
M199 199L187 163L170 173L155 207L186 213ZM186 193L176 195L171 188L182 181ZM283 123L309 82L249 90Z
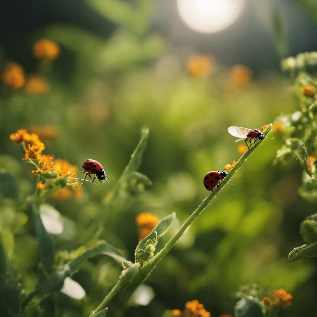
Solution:
M235 317L263 317L265 307L254 297L246 296L235 306Z

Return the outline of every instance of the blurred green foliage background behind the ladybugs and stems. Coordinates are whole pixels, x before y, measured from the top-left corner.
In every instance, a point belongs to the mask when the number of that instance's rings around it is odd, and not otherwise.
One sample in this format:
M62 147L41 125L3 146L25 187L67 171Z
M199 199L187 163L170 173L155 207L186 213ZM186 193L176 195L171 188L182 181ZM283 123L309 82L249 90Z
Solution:
M288 91L291 82L280 73L278 61L285 53L316 47L316 25L296 2L281 2L279 8L262 3L267 12L263 19L246 5L236 24L211 34L184 25L173 1L18 4L19 9L2 4L1 69L16 61L26 74L45 76L49 89L27 94L1 84L1 168L16 179L20 201L31 195L35 177L9 137L20 128L49 125L56 136L42 140L45 154L79 168L84 160L95 159L111 177L107 185L83 184L75 198L49 200L67 229L67 234L54 235L59 250L79 247L78 236L107 203L143 126L150 128L150 137L140 172L153 186L131 198L103 238L133 260L136 215L152 212L163 218L175 211L178 222L171 236L209 194L204 175L239 159L237 148L243 141L235 143L227 128L256 129L273 123L281 113L296 111ZM276 12L282 19L280 29ZM33 43L41 38L60 46L55 61L43 64L33 57ZM194 67L195 73L190 60L202 54L207 66L201 71ZM234 76L235 64L248 67L242 71L245 81ZM211 316L233 314L234 294L249 282L260 284L266 296L276 288L290 292L292 307L283 315L300 316L305 307L307 315L317 316L315 260L287 259L293 247L303 244L299 225L316 212L316 204L297 194L302 170L295 159L272 164L283 140L276 132L270 137L275 138L255 151L152 272L146 281L155 294L152 301L146 306L131 301L124 316L160 317L166 309L183 309L193 299ZM28 215L16 213L14 200L2 198L1 209L0 228L10 241L7 257L29 292L39 261L34 231ZM86 316L120 271L109 259L92 259L73 276L86 297L52 294L43 301L44 316Z

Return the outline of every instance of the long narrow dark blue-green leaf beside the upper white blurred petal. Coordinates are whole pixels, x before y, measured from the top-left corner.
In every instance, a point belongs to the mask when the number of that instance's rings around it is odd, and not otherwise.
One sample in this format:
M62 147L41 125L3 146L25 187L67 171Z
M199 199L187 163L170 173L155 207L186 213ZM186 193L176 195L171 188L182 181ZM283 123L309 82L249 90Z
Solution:
M47 272L49 272L49 270L55 263L54 240L43 226L42 219L40 217L38 210L36 209L36 205L34 204L34 202L31 202L31 208L34 216L35 232L38 241L38 249L40 253L41 262L43 264L43 268Z

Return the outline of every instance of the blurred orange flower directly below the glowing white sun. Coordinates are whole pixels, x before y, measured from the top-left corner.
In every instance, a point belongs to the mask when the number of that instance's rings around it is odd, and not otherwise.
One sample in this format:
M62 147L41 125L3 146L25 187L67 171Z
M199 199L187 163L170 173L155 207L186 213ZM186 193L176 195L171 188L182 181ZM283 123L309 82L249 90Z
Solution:
M187 61L187 70L192 76L206 77L213 73L215 61L207 55L193 55Z

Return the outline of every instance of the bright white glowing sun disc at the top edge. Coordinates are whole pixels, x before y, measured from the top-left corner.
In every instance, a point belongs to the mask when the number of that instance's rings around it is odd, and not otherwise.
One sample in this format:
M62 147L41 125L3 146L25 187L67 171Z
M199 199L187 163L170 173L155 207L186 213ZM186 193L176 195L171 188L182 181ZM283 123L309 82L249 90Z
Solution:
M221 31L236 21L246 0L177 0L178 13L191 29Z

